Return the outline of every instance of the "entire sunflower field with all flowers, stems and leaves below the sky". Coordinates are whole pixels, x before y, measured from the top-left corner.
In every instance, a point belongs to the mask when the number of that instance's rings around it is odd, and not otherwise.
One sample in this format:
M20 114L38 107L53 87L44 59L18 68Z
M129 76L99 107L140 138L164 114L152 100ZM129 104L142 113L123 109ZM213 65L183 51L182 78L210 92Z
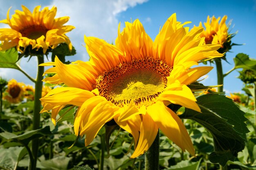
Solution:
M153 38L119 24L112 43L84 35L90 60L70 62L68 16L10 9L0 68L33 85L0 77L0 170L256 170L256 60L238 53L223 72L238 45L227 15L189 28L173 13ZM32 57L36 78L20 66ZM243 93L226 94L235 70Z

